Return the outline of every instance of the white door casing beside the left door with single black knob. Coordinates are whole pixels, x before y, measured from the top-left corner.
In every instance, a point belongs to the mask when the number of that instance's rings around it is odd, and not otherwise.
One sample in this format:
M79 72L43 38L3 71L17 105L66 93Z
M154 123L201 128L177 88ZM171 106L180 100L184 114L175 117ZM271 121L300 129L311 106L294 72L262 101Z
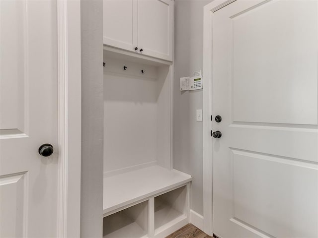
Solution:
M80 0L57 0L58 221L57 237L80 236Z

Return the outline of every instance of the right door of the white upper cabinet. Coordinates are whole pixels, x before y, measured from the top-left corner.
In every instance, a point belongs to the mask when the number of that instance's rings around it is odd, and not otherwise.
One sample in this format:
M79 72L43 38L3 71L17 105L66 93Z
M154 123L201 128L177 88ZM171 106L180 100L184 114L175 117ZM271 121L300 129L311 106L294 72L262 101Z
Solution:
M173 1L138 0L138 47L142 54L172 61Z

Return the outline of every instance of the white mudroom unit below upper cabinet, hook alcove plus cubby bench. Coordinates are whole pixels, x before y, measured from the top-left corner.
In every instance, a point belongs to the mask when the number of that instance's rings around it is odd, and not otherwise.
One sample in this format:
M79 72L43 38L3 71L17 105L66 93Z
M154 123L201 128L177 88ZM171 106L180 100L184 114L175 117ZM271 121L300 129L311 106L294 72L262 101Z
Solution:
M173 169L173 63L104 46L104 237L163 238L189 222Z

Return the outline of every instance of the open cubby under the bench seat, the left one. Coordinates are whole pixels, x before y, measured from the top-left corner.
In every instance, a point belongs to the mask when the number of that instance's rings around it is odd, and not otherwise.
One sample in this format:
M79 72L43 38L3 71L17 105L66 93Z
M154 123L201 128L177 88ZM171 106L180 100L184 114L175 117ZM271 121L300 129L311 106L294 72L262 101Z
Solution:
M142 238L148 235L148 201L103 218L103 238Z

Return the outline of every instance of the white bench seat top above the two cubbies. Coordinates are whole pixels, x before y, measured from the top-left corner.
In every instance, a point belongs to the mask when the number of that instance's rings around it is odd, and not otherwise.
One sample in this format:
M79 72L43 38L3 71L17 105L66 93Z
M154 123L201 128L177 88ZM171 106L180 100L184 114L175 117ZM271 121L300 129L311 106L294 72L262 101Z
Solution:
M103 217L191 181L177 170L152 166L104 178Z

